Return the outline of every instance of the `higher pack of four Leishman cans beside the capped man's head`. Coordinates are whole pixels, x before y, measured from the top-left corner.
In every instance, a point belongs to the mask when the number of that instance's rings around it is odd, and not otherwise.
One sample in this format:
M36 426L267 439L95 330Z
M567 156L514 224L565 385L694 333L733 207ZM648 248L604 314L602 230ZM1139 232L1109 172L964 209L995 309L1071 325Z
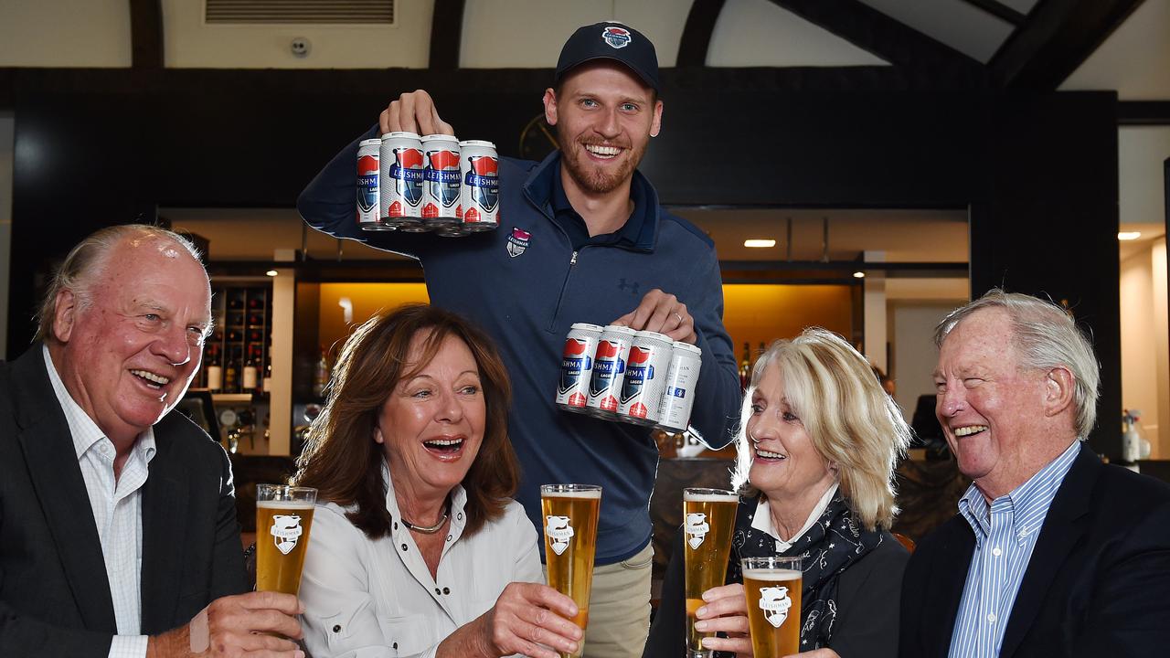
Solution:
M448 238L500 225L500 158L491 142L387 132L358 144L357 221L365 231Z

